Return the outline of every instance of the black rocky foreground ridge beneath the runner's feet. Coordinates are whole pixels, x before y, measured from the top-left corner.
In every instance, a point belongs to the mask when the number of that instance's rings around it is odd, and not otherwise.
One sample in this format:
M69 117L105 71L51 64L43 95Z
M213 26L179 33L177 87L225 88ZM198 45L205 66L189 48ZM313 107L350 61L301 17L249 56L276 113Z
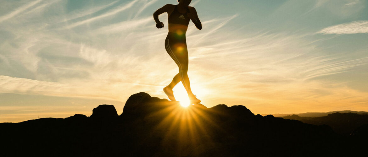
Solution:
M1 156L351 156L365 151L367 125L350 136L328 125L254 115L245 106L181 107L141 92L117 115L1 123Z

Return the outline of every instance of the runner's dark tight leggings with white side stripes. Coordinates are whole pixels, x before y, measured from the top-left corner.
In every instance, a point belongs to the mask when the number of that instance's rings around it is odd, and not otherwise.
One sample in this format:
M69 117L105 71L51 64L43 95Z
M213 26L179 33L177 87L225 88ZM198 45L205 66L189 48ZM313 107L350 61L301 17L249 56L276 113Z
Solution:
M175 86L178 82L181 81L185 90L187 90L188 95L192 94L187 74L188 50L185 35L178 37L176 36L176 33L169 32L165 40L165 49L179 68L179 73L174 76L173 81L170 83L170 85Z

